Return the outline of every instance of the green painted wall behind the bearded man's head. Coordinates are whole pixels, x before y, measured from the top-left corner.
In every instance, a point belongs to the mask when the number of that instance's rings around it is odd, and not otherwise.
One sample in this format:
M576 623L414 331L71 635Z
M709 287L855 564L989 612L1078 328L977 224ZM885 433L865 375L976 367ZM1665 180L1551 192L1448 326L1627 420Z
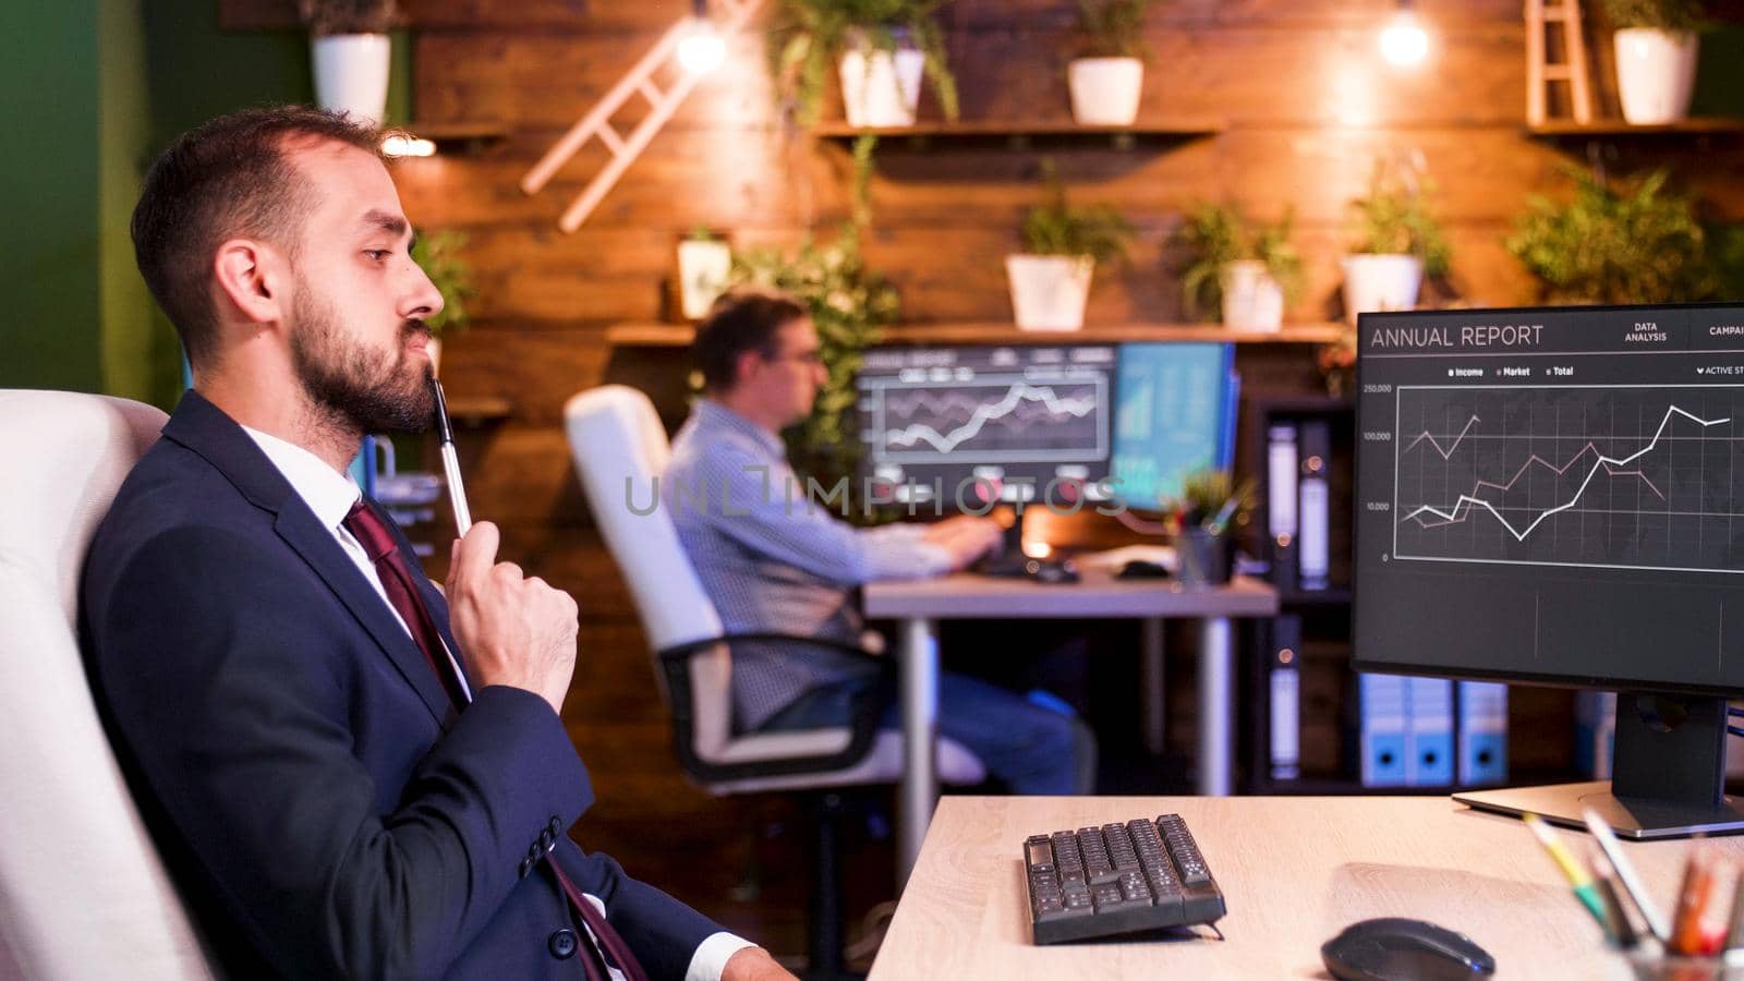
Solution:
M221 33L215 0L16 3L0 37L0 388L106 391L169 407L181 349L133 262L140 178L176 134L251 105L310 101L300 30ZM389 119L406 120L410 40Z

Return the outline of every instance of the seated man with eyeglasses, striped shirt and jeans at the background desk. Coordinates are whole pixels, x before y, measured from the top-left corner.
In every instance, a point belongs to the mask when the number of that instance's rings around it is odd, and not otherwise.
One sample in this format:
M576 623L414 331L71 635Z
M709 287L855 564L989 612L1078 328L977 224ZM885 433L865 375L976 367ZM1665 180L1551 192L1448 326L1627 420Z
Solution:
M828 513L788 466L781 429L811 414L828 379L818 332L790 297L741 290L715 302L692 356L705 394L671 447L661 503L729 634L780 632L858 644L860 585L966 567L1001 538L985 517L860 529ZM813 490L813 492L807 492ZM739 642L732 712L741 731L846 724L879 677L849 653ZM1071 714L954 672L938 684L938 730L1018 794L1090 792L1093 737ZM886 728L896 728L895 705Z

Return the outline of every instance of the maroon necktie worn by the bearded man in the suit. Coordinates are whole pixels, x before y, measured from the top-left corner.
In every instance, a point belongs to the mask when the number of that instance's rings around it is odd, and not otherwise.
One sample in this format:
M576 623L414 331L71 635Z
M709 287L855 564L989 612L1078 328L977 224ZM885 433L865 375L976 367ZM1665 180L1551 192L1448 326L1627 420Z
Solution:
M466 688L460 686L459 676L455 676L452 663L448 662L448 649L441 642L441 632L436 630L436 620L431 616L427 606L424 606L424 597L419 593L417 580L413 578L412 566L406 557L401 555L399 545L394 541L391 531L387 531L387 522L375 513L375 508L366 504L361 497L351 506L345 515L345 531L363 545L364 553L375 562L375 576L382 581L382 588L387 592L387 602L399 613L399 618L406 621L406 628L412 630L412 639L417 641L419 649L424 651L424 660L429 662L431 670L441 681L443 691L448 693L448 700L453 702L455 709L466 707L469 698L466 696ZM593 930L598 939L598 946L617 964L617 969L624 972L628 981L647 981L647 974L642 972L642 965L637 957L630 953L630 944L624 943L617 930L605 920L605 916L588 902L588 899L576 888L576 883L563 875L558 868L556 859L546 852L546 864L556 875L556 882L563 887L563 895L569 897L569 904L576 916ZM581 944L581 964L589 981L607 981L605 965L598 960L600 951L593 944Z

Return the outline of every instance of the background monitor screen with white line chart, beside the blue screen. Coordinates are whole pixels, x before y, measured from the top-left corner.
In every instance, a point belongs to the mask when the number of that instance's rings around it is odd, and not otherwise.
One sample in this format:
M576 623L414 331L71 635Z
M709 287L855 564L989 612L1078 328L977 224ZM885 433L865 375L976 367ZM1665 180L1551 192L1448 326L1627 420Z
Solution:
M858 421L872 497L971 511L1102 499L1113 386L1107 344L867 351Z

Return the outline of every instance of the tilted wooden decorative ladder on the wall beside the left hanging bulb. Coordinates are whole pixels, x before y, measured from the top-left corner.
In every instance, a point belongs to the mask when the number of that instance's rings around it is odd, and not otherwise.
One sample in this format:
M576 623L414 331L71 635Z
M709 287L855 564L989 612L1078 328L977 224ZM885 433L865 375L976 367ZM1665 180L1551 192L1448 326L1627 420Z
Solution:
M764 5L764 0L715 0L715 5L722 10L722 16L715 19L717 33L727 38L752 19L752 14ZM703 9L706 5L698 0L696 7ZM637 162L637 157L642 155L642 150L647 150L654 134L666 126L671 113L678 112L678 105L684 103L691 89L703 79L698 73L678 70L678 79L664 91L654 84L654 73L675 63L678 42L694 26L696 19L692 17L682 17L673 24L630 72L624 72L624 77L605 93L605 98L588 110L588 115L581 117L576 126L570 126L569 133L546 150L546 155L521 178L523 192L539 194L556 175L558 168L588 145L588 140L598 140L605 147L610 161L600 168L600 173L593 175L588 187L582 189L581 196L558 218L558 227L565 232L574 232L588 220L588 215L600 204L600 199L617 185L617 178L624 176L630 164ZM637 94L649 101L649 113L630 131L630 136L619 136L612 129L612 117Z

